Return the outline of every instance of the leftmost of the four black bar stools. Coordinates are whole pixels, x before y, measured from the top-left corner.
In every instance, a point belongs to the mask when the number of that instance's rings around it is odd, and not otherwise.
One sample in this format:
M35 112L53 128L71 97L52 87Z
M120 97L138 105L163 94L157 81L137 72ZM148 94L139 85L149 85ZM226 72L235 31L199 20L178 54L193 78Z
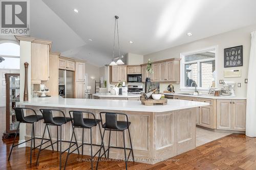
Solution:
M15 137L13 139L12 148L11 148L11 151L10 151L10 154L9 154L9 157L8 157L8 161L10 160L10 157L11 157L11 154L12 154L12 150L13 150L14 147L16 147L19 144L23 144L25 142L30 141L30 166L31 166L32 150L34 150L35 148L38 148L40 146L40 145L38 145L37 147L35 147L35 139L41 139L41 138L35 137L34 123L38 122L39 120L41 120L42 119L42 115L37 115L36 112L33 109L30 109L30 108L16 107L16 108L13 108L13 109L15 111L16 120L18 121L18 127L17 127L16 133L15 133ZM29 115L29 116L24 116L24 110L32 110L34 114ZM31 139L26 140L26 141L24 141L22 143L14 145L15 139L17 137L17 133L18 133L18 130L19 130L20 123L32 124L32 127L31 127ZM51 137L50 137L50 139L47 139L47 140L51 141ZM34 148L33 149L32 149L32 143L34 144ZM52 150L53 150L53 148L52 148Z

